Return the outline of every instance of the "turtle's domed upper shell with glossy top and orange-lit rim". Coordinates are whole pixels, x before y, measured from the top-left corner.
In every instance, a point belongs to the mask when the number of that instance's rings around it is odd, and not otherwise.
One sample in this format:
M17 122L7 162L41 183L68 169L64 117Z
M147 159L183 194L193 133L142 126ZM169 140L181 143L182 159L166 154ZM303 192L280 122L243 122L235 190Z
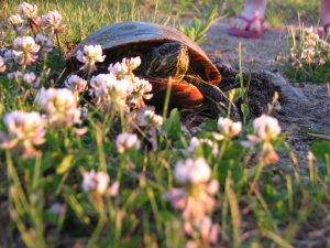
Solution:
M103 26L79 43L72 52L69 61L73 61L78 50L90 44L102 46L107 54L106 64L132 56L141 56L143 60L143 54L165 42L180 42L188 47L190 72L210 84L221 80L218 68L194 41L174 28L145 22L121 22Z

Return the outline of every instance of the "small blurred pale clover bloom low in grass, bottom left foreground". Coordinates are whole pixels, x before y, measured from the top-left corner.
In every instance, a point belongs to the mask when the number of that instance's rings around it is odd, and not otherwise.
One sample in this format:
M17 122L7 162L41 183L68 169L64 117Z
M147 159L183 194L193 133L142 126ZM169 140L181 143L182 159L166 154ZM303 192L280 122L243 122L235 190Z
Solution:
M86 193L96 192L99 195L105 195L109 187L110 177L106 172L85 172L81 187Z

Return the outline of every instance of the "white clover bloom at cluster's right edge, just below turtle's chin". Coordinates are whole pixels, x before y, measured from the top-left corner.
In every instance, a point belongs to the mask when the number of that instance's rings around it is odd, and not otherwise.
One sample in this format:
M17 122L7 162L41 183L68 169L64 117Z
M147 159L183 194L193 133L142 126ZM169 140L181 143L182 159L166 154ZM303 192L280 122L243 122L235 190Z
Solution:
M132 108L141 108L144 106L144 99L148 100L153 97L151 94L153 86L148 80L140 79L138 77L133 78L133 91L129 96L129 105Z

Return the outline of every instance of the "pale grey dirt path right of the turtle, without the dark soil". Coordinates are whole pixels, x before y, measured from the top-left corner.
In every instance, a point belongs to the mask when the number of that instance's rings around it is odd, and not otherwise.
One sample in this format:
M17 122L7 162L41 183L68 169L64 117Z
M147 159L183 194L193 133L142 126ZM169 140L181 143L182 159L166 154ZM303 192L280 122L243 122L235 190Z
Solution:
M286 78L283 64L275 61L277 54L288 54L286 28L272 29L262 39L251 40L228 35L227 26L226 23L216 23L208 32L204 48L212 60L220 60L238 71L238 47L242 44L243 68L249 68L253 58L254 71L268 75L271 83L280 88L280 109L274 116L279 119L298 159L306 164L307 151L315 140L306 130L314 128L330 133L330 99L326 82L295 84Z

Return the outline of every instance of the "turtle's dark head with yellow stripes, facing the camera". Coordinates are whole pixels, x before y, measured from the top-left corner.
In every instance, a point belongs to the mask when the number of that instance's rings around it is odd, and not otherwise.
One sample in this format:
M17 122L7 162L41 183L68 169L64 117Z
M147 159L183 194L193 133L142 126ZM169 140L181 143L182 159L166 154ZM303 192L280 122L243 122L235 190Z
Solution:
M154 47L145 60L145 75L152 78L182 79L188 71L189 55L186 45L168 42Z

